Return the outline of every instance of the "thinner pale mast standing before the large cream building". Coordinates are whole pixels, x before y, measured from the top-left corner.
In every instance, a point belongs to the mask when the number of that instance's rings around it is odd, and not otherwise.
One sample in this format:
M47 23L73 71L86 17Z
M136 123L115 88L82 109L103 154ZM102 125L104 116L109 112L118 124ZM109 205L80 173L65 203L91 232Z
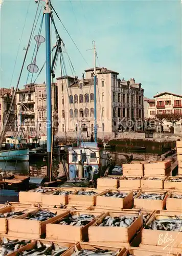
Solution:
M96 76L96 44L94 43L94 140L97 142L97 76Z

